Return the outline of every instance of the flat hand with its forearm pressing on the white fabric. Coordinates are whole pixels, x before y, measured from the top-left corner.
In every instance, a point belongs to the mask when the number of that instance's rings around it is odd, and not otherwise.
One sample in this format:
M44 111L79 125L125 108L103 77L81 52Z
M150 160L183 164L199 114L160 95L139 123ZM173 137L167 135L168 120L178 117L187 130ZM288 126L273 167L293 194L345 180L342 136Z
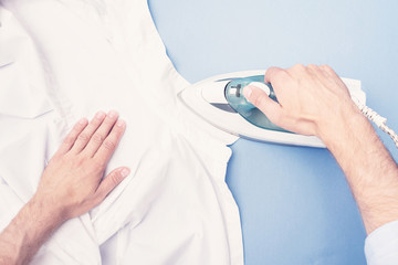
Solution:
M126 125L114 110L81 119L50 160L33 198L0 234L0 264L27 264L66 220L86 213L128 176L121 167L103 178Z

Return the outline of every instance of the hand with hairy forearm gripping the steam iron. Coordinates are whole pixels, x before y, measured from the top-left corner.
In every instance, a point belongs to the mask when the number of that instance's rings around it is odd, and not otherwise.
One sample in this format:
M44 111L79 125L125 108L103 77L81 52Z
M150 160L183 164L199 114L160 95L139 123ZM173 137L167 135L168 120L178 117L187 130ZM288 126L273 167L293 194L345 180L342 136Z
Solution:
M265 73L279 103L260 88L243 94L272 123L320 137L347 177L368 233L398 220L398 167L374 128L328 66L271 67Z

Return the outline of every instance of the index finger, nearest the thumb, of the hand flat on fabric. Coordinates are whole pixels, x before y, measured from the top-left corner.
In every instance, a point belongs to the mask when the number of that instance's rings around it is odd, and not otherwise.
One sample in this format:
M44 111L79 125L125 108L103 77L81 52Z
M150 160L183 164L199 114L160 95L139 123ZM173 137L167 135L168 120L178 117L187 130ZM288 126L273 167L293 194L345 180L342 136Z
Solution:
M122 119L117 120L116 125L112 128L111 134L105 138L97 152L94 155L94 159L102 165L106 165L114 153L125 129L126 123Z

